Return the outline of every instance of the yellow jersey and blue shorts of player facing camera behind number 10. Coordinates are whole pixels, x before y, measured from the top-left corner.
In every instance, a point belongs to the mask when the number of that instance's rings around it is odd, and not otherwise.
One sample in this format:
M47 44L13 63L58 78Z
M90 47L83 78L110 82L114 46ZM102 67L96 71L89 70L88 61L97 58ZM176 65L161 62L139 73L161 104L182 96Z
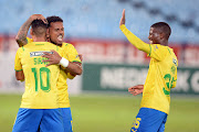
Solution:
M28 43L32 42L32 38L27 37ZM76 52L75 47L70 43L62 43L62 51L63 51L63 57L66 58L69 62L78 62L81 63L81 59L78 57L78 53ZM71 114L71 105L69 99L69 92L67 92L67 82L66 79L73 79L74 76L72 76L70 73L65 73L63 68L60 70L59 79L56 87L59 89L59 107L62 112L63 118L63 124L64 124L64 131L65 132L72 132L72 114Z

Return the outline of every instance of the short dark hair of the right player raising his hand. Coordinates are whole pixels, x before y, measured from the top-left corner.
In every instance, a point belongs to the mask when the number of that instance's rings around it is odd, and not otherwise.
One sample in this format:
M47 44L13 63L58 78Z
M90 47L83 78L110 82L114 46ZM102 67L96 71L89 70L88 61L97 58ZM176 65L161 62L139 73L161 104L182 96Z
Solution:
M171 29L169 24L167 24L166 22L157 22L153 24L150 28L157 28L160 32L165 33L167 40L171 34Z

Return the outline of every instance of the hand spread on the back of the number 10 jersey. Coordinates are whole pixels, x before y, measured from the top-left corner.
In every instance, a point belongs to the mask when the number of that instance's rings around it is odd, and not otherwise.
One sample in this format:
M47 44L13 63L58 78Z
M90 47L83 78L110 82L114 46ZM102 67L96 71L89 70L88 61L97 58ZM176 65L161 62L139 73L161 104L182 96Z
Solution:
M43 53L44 55L42 55L42 57L49 58L49 59L42 61L42 62L49 62L49 64L48 64L46 66L54 65L54 64L59 64L60 61L62 59L62 57L59 55L57 52L55 52L54 50L51 50L51 52L52 52L53 54L50 54L50 53L48 53L48 52L44 52L44 53ZM46 66L45 66L45 67L46 67Z

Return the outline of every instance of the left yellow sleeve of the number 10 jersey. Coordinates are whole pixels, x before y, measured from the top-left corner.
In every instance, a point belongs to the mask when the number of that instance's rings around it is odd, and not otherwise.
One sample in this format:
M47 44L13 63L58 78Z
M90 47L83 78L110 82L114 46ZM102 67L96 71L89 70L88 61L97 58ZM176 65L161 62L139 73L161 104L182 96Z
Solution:
M14 70L20 72L22 70L22 65L21 65L21 47L18 50L17 54L15 54L15 59L14 59Z

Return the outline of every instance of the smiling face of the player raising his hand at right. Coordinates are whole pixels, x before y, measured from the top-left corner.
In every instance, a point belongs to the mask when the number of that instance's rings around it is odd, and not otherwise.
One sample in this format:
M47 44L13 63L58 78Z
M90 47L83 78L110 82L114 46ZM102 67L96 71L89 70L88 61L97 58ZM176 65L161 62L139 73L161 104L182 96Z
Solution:
M156 28L150 28L148 40L150 44L159 44L160 43L160 34Z

